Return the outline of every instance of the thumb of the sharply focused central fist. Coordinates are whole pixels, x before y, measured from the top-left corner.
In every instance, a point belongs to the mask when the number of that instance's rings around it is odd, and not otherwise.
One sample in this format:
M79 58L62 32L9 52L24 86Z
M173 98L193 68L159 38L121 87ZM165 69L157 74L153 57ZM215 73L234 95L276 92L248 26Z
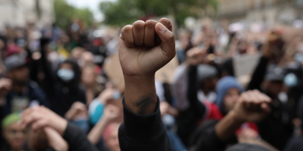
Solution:
M155 26L155 31L161 39L161 48L164 55L172 59L176 55L175 48L175 35L169 31L163 24L157 23Z

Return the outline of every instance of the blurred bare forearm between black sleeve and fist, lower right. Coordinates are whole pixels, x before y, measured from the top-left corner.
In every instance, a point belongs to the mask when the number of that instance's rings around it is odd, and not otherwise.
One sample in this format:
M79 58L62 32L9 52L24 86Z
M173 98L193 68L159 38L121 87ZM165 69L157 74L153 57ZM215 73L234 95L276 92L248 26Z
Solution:
M235 113L230 111L220 122L215 126L215 133L222 140L228 140L235 131L241 126L243 121L235 117Z

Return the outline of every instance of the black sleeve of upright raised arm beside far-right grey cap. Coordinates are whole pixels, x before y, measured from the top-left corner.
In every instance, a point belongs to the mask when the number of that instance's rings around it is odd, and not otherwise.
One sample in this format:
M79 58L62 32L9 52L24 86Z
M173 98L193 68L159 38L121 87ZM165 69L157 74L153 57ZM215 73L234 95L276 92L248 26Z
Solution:
M253 89L261 89L261 83L264 80L266 68L268 64L268 59L265 57L261 57L254 74L252 75L251 81L248 84L247 90L253 90Z

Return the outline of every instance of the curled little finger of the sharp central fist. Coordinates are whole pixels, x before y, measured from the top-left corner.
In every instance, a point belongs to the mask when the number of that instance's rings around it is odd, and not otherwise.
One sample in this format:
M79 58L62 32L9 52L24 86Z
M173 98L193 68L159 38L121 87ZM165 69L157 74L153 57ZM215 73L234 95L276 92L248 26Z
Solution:
M126 25L121 30L120 38L125 40L125 44L128 47L134 47L135 46L135 40L133 35L133 26L132 25Z

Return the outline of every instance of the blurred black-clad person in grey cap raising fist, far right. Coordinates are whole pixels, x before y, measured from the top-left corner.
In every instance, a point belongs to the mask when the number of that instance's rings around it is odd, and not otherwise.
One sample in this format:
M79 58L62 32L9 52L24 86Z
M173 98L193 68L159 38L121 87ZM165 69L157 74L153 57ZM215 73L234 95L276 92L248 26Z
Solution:
M280 150L284 149L293 133L293 115L288 104L284 103L288 97L279 97L283 88L284 70L276 64L269 64L270 60L276 62L280 57L277 54L282 51L281 43L283 42L279 41L276 34L269 35L269 42L248 85L248 90L258 89L273 100L271 113L258 123L258 129L262 139Z

